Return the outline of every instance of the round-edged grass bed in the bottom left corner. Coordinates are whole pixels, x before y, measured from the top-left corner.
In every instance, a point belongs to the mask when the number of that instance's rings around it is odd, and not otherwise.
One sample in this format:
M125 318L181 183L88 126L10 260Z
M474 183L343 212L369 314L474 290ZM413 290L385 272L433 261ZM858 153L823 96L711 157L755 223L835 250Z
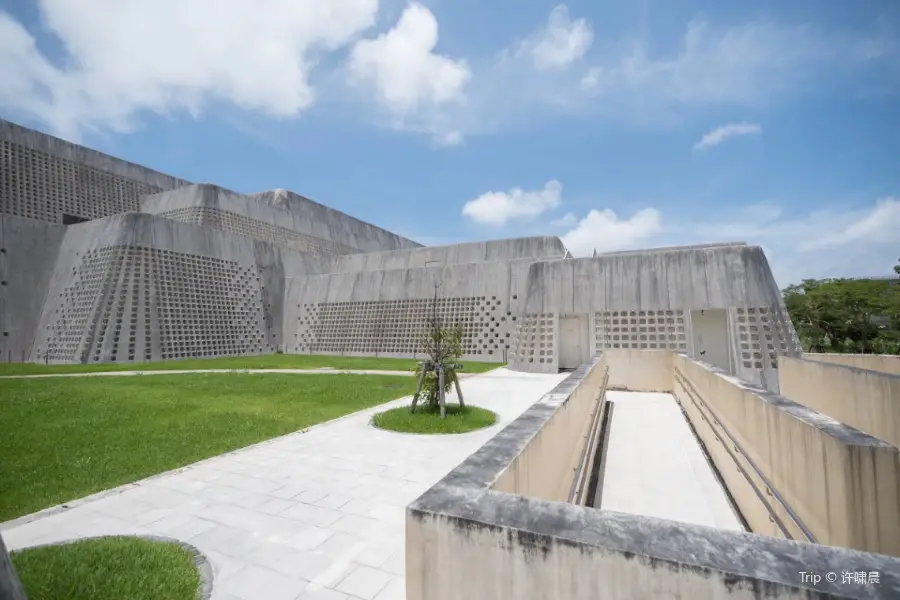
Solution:
M13 552L28 600L196 600L192 553L128 537L80 540Z

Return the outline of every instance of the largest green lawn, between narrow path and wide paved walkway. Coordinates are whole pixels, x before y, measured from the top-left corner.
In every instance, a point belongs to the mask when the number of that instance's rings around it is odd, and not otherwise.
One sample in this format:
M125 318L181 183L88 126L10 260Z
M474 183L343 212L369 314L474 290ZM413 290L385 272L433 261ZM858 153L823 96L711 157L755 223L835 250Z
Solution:
M412 395L414 377L0 380L0 522Z

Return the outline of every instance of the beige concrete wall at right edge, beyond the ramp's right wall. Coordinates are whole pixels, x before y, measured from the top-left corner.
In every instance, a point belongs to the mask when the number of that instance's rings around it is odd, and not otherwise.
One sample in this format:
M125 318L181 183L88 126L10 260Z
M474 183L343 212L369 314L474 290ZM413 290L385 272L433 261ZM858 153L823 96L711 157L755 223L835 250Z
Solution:
M794 402L900 446L900 375L787 357L778 375Z

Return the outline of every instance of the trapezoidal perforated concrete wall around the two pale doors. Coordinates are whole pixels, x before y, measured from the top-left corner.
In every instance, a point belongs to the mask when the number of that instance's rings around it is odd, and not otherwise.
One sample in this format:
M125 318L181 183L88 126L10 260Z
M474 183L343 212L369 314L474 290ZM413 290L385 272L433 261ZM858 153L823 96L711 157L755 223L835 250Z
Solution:
M557 369L558 349L548 334L556 332L561 314L590 317L591 354L614 348L692 353L690 311L726 309L735 370L763 384L777 381L778 356L800 353L765 255L754 246L707 245L536 262L527 290L524 312L533 320L528 326L523 322L517 336L511 363L516 369Z

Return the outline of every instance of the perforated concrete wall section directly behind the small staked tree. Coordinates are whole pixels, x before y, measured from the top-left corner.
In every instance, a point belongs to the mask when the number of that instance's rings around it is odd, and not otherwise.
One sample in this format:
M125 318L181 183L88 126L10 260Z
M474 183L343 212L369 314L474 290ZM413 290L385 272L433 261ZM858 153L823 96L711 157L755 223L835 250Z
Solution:
M438 281L438 316L463 328L464 358L501 362L513 347L530 262L291 278L285 343L304 354L416 356Z

